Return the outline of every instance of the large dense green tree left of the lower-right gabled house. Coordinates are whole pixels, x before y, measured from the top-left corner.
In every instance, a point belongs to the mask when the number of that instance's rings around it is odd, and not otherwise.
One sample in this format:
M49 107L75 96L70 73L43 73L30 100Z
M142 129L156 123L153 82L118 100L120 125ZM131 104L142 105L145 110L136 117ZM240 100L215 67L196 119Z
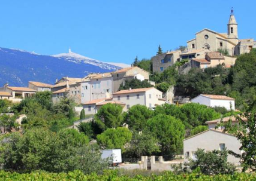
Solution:
M182 121L169 115L156 115L147 124L153 136L158 139L162 155L173 157L182 151L185 136Z

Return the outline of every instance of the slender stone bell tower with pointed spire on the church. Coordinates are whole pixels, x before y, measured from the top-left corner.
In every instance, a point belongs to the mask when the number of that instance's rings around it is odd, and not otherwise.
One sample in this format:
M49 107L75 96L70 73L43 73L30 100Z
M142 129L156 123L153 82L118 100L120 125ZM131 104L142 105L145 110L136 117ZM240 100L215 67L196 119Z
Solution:
M234 44L238 44L237 23L233 8L231 9L230 20L228 21L228 40Z

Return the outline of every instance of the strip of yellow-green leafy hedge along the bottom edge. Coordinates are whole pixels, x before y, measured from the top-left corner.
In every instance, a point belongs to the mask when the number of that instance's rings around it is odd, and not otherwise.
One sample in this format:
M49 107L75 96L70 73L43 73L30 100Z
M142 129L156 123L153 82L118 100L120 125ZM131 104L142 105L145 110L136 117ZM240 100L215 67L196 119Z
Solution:
M37 171L32 173L10 173L7 171L0 171L0 180L5 181L22 181L22 180L47 180L47 181L55 181L55 180L85 180L85 181L171 181L171 180L193 180L193 181L209 181L209 180L218 180L218 181L250 181L256 180L256 174L248 174L248 173L236 173L233 175L216 175L216 176L205 176L203 174L180 174L174 175L171 172L164 172L161 175L151 176L126 176L120 175L118 171L105 171L103 175L90 174L85 175L82 171L76 170L69 173L47 173L45 171Z

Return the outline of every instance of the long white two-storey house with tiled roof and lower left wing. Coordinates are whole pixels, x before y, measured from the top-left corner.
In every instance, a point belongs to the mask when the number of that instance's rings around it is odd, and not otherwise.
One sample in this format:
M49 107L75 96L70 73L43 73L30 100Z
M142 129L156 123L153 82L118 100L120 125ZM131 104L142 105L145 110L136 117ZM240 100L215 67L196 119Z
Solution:
M95 99L83 103L83 109L86 114L95 114L101 106L107 103L121 105L123 111L127 111L134 105L144 105L153 109L157 105L164 104L165 99L162 99L162 92L156 88L137 88L118 91L113 93L112 98Z

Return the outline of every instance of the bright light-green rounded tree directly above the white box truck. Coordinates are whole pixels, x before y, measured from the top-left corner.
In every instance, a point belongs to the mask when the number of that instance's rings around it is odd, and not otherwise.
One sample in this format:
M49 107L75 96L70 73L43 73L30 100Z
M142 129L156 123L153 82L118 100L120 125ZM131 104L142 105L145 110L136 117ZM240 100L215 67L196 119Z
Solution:
M104 149L122 149L125 151L125 144L131 140L132 133L125 127L107 128L97 136L98 144Z

